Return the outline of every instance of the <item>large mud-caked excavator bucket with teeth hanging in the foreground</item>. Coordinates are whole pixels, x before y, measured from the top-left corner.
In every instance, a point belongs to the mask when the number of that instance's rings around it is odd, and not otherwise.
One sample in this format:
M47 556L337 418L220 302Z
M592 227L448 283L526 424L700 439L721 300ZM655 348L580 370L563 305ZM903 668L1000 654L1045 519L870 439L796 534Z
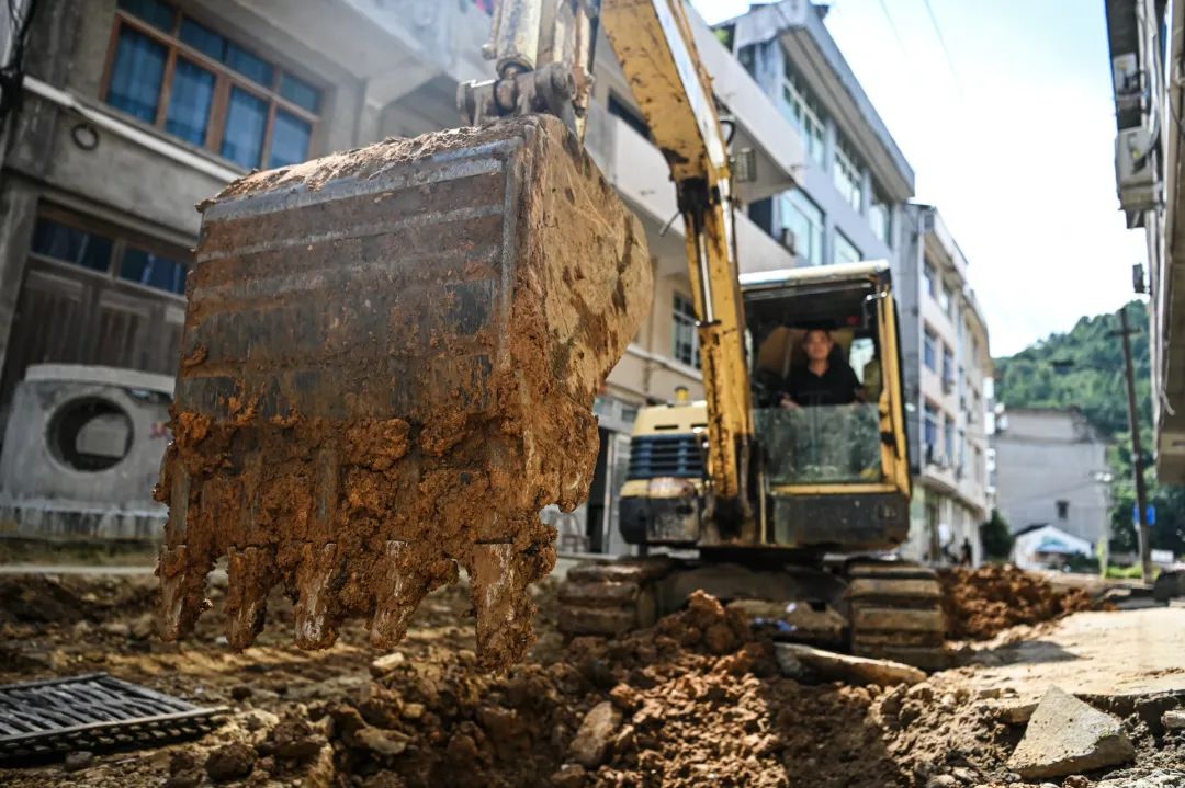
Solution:
M472 581L481 664L532 641L539 510L588 496L592 400L651 303L638 219L558 121L389 140L256 173L199 209L158 566L188 633L228 557L228 639L269 589L295 641L390 647Z

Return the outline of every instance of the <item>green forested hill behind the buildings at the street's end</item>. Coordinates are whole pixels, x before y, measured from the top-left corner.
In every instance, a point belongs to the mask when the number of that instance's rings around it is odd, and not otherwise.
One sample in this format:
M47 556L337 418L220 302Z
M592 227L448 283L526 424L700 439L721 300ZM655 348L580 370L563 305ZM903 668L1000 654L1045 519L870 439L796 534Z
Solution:
M1141 431L1152 437L1148 315L1144 302L1127 306L1135 362ZM1065 334L1051 334L1014 356L995 360L995 400L1006 407L1077 406L1109 437L1127 433L1123 345L1115 312L1083 317Z

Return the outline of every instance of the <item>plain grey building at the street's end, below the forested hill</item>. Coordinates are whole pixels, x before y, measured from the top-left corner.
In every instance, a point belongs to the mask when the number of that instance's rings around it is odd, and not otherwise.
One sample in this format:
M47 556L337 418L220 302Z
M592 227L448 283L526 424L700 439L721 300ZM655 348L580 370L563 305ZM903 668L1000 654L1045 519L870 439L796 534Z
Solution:
M1091 545L1107 538L1107 443L1081 412L1008 408L993 444L995 505L1014 534L1053 525Z

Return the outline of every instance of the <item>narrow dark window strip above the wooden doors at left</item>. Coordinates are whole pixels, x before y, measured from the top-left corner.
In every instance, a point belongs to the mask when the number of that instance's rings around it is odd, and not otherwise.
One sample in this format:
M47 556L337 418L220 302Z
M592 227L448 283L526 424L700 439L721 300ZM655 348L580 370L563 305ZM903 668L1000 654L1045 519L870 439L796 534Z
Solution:
M31 251L58 263L69 263L96 273L114 276L133 284L185 295L187 267L173 257L148 251L152 243L139 243L81 230L50 217L39 217L33 227Z

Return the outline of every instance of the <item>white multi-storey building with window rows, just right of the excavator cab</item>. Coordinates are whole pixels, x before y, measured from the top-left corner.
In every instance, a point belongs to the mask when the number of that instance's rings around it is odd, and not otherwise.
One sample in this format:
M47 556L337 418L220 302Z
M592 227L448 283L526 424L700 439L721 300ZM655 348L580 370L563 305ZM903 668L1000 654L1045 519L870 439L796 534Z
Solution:
M991 514L992 356L967 258L931 206L908 205L896 266L914 472L908 553L981 557Z

